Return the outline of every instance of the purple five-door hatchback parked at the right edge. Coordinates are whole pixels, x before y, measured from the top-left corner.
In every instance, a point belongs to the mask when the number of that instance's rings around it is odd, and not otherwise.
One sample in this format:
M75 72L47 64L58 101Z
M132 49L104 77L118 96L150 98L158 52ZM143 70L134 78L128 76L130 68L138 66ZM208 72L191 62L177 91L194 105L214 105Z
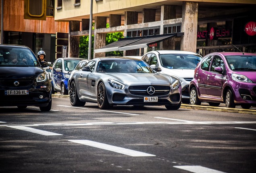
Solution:
M198 63L190 82L190 104L256 106L256 54L215 52Z

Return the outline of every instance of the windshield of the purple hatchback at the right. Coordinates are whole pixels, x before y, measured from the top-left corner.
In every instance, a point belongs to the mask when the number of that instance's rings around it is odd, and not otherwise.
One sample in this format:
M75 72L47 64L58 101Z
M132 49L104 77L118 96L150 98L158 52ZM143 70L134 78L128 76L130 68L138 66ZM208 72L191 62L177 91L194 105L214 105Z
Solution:
M232 70L256 70L256 56L226 56Z

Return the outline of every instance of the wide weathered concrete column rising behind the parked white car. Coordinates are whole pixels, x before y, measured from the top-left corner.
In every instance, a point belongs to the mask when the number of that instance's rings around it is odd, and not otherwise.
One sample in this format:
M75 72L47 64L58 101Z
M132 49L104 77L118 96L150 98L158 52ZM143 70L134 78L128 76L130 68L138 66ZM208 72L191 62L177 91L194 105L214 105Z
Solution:
M183 2L180 50L196 52L198 2Z

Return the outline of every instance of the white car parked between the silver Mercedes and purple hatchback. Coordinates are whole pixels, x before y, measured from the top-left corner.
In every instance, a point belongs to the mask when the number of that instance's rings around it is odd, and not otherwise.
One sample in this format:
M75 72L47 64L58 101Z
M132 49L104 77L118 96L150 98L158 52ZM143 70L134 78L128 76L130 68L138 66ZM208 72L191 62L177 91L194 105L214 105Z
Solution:
M202 59L197 53L180 50L156 50L141 58L156 72L175 76L182 85L182 103L189 104L189 84L194 77L196 65Z

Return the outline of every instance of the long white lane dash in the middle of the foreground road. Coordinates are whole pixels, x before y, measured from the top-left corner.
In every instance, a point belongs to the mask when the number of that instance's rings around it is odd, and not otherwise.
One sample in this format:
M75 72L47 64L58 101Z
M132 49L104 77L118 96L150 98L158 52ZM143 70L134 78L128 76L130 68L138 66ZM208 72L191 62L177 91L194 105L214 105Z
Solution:
M135 150L130 150L130 149L125 149L122 147L116 147L113 145L108 145L108 144L104 144L104 143L98 143L98 142L94 142L94 141L89 141L89 140L69 140L70 142L74 142L74 143L79 143L79 144L83 144L83 145L88 145L91 147L96 147L99 149L105 149L108 151L113 151L116 153L121 153L124 155L129 155L132 157L149 157L149 156L155 156L152 154L148 154L148 153L143 153L140 151L135 151Z

